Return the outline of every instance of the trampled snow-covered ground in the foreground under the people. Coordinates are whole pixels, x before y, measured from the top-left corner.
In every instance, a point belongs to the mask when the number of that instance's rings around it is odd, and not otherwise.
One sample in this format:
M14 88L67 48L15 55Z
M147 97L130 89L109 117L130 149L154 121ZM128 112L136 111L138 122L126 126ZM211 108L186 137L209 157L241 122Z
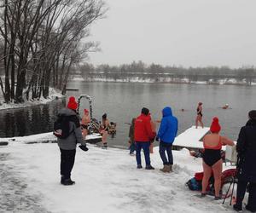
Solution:
M32 139L38 135L25 141ZM201 158L189 156L187 149L173 152L174 172L164 174L158 147L151 154L155 170L137 170L127 150L89 148L77 149L76 184L62 186L57 144L9 141L0 147L0 212L233 212L229 200L222 205L213 197L200 199L185 186L202 170Z

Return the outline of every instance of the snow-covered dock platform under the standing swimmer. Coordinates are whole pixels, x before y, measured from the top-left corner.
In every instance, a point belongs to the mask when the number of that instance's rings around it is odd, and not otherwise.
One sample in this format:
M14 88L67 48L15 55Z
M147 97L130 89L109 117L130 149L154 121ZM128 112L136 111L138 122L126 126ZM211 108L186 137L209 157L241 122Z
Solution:
M209 130L209 127L198 127L197 129L195 129L195 126L192 126L180 135L177 135L175 141L173 142L173 147L201 149L203 148L203 143L200 140L204 135L207 134Z

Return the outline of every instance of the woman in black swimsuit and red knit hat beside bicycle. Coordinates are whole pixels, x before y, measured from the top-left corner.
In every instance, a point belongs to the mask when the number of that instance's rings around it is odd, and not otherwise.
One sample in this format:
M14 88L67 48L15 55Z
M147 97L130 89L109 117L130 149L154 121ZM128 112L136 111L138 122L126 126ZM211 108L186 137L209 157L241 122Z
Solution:
M221 184L221 174L222 174L222 158L221 158L221 149L224 145L234 146L234 142L229 138L218 135L221 130L220 125L218 124L218 118L215 117L212 119L212 124L210 127L210 134L207 134L203 138L204 153L203 153L203 170L204 176L202 180L202 190L201 197L206 196L208 181L210 177L214 176L214 190L215 190L215 199L220 199L219 191Z

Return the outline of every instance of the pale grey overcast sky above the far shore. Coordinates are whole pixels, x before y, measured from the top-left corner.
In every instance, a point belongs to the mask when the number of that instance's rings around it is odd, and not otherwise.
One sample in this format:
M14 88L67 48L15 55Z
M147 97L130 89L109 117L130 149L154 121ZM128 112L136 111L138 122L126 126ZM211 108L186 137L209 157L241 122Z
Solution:
M90 62L120 65L256 65L256 0L105 0L91 27L101 52Z

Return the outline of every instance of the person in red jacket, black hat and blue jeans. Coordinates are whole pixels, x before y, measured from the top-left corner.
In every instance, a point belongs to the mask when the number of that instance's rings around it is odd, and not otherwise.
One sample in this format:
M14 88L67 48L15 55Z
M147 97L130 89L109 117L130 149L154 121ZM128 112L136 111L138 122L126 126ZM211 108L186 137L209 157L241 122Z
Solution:
M145 155L146 170L154 170L154 167L150 164L149 147L150 141L154 141L155 132L152 131L150 124L150 116L148 108L143 107L142 113L135 120L134 124L134 141L136 143L136 160L137 169L142 169L141 150Z

